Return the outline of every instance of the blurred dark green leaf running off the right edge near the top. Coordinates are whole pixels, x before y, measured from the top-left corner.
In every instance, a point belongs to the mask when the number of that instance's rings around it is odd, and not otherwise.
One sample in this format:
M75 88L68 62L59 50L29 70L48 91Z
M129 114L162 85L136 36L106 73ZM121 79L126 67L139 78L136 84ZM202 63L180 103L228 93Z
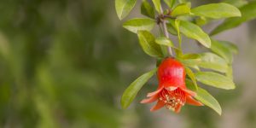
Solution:
M233 17L227 20L224 20L222 24L217 26L212 30L211 35L218 34L219 32L224 32L230 28L241 25L241 23L248 20L253 20L256 18L256 2L247 3L245 6L240 8L241 17Z

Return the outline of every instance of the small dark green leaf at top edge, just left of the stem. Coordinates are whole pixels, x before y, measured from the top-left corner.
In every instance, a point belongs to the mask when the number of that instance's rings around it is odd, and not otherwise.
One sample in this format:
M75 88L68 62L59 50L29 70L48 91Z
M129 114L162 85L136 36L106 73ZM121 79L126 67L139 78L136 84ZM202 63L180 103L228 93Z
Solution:
M147 0L143 0L142 6L141 6L141 13L142 15L146 15L152 19L154 19L154 8L148 3Z

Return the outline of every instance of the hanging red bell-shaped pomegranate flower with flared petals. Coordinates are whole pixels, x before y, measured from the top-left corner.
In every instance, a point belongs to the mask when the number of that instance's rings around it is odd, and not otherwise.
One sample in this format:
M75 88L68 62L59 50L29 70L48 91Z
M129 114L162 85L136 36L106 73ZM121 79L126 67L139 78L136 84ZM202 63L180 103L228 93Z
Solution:
M196 101L192 96L196 93L188 90L185 84L186 73L183 65L172 58L166 58L158 68L159 86L154 92L148 93L148 99L141 103L157 101L150 111L158 110L164 106L179 113L185 103L195 106L202 106L201 102Z

